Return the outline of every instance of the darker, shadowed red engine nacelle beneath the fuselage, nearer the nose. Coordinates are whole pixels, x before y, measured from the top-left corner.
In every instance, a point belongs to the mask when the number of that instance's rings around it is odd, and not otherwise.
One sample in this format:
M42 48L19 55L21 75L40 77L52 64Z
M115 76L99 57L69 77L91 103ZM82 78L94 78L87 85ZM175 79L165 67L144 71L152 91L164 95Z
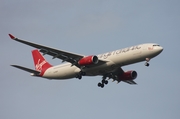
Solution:
M120 76L120 80L134 80L137 77L136 71L127 71Z

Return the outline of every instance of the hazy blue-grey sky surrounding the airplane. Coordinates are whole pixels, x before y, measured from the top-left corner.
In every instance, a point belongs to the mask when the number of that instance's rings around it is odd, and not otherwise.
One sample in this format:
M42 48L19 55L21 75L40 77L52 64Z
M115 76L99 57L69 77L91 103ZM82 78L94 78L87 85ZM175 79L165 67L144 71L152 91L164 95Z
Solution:
M179 0L2 0L0 2L1 119L179 119ZM138 85L101 77L46 80L10 67L33 67L32 42L90 55L140 43L164 51L150 61L123 67L136 70ZM52 60L60 64L59 59Z

